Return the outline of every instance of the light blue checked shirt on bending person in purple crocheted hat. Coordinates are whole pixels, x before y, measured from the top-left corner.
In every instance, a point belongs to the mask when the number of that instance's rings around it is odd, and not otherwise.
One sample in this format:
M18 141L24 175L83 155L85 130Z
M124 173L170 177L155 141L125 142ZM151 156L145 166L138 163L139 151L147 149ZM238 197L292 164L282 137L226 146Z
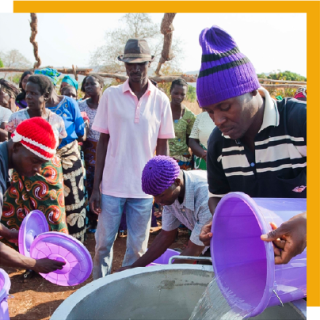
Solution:
M164 206L162 212L162 229L171 231L183 223L191 230L190 240L198 245L204 244L199 240L201 228L212 219L208 207L208 183L206 171L183 171L185 195L183 202L178 199L170 206Z

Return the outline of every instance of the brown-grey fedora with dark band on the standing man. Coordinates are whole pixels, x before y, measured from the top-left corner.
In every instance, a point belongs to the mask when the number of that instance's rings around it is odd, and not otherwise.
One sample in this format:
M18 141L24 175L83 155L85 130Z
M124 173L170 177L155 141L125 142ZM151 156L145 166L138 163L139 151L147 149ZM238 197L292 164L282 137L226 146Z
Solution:
M129 39L124 47L124 54L118 60L127 63L153 61L148 42L145 39Z

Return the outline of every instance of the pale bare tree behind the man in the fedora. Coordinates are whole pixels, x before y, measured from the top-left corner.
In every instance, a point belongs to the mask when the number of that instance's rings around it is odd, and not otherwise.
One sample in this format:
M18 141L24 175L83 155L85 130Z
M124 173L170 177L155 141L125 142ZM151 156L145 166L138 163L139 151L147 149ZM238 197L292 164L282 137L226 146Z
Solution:
M125 44L130 38L144 38L148 41L151 54L155 56L155 62L159 60L163 35L160 33L160 25L152 21L147 13L127 13L120 20L120 27L107 31L106 43L98 47L92 54L90 64L100 66L104 72L124 72L124 64L117 57L123 54ZM175 54L173 63L180 54L181 41L173 41L172 50ZM176 61L174 61L176 60Z

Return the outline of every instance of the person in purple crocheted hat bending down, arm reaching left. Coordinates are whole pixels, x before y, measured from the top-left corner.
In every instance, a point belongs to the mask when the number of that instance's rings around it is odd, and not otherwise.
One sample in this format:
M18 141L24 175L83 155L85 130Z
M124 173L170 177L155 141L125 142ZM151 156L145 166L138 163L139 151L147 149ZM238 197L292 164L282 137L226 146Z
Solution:
M200 230L211 219L206 172L184 171L171 157L156 156L143 169L142 190L164 206L162 230L142 257L120 270L145 267L159 258L174 242L181 223L192 230L181 255L199 256L206 249L199 240Z

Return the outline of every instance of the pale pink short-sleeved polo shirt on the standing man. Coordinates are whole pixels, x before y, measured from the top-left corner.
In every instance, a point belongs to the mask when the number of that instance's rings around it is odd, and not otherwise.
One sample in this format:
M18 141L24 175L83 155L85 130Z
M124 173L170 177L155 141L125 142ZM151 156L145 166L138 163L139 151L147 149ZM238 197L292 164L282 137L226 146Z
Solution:
M141 187L142 170L157 139L175 137L170 101L148 80L138 100L127 80L104 91L93 130L110 134L101 192L119 198L151 198Z

